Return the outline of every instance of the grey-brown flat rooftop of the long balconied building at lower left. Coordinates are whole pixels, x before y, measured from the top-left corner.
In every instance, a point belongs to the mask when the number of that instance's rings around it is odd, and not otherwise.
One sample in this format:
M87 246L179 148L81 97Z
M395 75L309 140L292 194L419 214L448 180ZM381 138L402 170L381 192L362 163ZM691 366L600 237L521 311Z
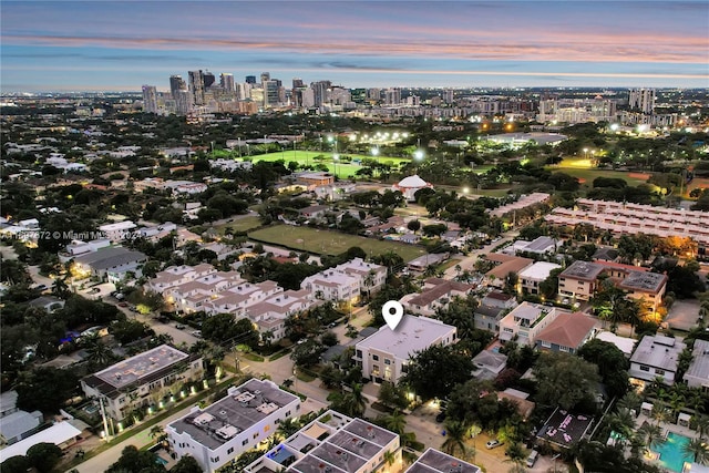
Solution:
M161 345L152 350L144 351L125 359L103 371L99 371L94 377L99 378L113 388L123 388L126 384L138 381L162 369L187 359L189 356L168 345Z

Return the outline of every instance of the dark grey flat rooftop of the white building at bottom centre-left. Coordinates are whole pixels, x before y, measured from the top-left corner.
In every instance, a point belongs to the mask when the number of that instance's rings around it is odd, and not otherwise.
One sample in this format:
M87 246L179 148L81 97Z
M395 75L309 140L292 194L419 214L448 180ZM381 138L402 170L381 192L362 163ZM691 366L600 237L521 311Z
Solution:
M181 434L186 432L207 449L215 450L297 400L298 397L270 382L251 379L229 390L226 398L204 410L188 413L168 424L168 428Z

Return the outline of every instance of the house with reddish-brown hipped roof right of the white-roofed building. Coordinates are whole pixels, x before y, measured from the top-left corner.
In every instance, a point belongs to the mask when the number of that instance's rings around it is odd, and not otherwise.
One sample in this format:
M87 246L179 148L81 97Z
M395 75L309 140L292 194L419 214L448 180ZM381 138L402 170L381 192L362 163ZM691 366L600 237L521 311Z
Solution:
M583 312L561 312L536 336L536 348L575 353L596 335L596 319Z

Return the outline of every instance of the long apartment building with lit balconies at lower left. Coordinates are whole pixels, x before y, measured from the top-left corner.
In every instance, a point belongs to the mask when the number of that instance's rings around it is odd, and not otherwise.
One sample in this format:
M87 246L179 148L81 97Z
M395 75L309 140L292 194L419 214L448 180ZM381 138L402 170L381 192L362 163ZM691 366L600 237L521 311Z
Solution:
M136 408L157 404L171 388L202 379L202 361L199 354L161 345L83 378L81 389L86 398L100 399L106 415L120 421Z

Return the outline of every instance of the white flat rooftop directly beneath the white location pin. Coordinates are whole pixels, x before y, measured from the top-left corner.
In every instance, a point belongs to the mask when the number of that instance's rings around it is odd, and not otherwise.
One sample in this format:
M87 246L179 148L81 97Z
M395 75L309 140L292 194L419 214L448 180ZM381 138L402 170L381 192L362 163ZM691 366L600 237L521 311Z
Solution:
M397 330L383 326L357 343L357 347L373 348L399 359L408 359L412 353L429 348L431 343L452 331L455 331L455 327L439 320L404 315Z

